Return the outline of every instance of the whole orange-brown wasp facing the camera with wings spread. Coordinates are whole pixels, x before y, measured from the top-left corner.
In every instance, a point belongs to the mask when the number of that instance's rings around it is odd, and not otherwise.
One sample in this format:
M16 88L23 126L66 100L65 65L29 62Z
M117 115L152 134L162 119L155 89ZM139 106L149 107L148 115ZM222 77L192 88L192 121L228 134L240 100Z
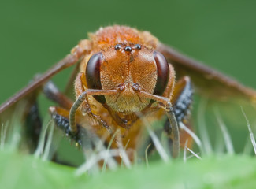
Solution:
M72 77L76 100L72 101L48 81L76 64L78 72ZM239 96L254 102L256 97L253 89L180 54L150 32L119 25L100 28L81 40L71 54L4 102L2 117L17 102L33 102L42 88L58 103L49 108L55 123L76 140L80 128L99 137L108 133L109 139L118 130L121 143L137 150L145 130L142 117L150 121L167 117L163 130L174 158L186 140L192 141L179 124L190 125L194 90L213 98Z

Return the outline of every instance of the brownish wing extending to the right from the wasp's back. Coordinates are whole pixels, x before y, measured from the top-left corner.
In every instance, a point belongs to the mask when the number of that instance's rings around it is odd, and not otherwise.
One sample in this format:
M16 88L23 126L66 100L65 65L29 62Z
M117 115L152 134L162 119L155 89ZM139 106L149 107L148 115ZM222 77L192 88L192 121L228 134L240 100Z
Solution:
M249 100L256 99L256 91L236 80L224 76L210 67L186 57L173 48L162 43L158 45L158 51L164 54L176 70L178 78L190 76L197 91L202 95L213 98L242 97Z

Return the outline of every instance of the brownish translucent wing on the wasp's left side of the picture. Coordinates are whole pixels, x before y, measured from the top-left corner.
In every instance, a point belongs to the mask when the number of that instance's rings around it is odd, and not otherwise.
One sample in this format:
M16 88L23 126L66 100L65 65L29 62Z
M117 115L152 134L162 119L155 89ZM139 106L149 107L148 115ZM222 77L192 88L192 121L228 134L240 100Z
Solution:
M43 75L35 78L35 80L26 87L18 91L6 102L2 103L0 106L0 128L3 130L4 127L9 128L9 125L13 127L13 125L23 124L24 121L28 121L28 116L31 115L32 107L36 105L36 99L39 92L42 90L43 84L62 69L74 65L83 54L84 51L80 50L80 48L75 49L72 54L69 54L59 61L48 71L43 73ZM31 117L33 117L33 115L31 115ZM35 115L35 117L38 117L38 115ZM13 124L13 122L15 124Z

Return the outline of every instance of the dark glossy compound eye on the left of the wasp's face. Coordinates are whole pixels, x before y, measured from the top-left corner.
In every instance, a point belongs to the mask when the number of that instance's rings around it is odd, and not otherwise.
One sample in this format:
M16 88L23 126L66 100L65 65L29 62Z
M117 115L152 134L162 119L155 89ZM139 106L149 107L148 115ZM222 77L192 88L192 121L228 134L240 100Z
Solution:
M87 63L85 70L85 78L89 89L102 89L101 78L100 78L100 67L102 65L103 54L97 53L91 56ZM104 104L106 99L104 95L95 95L94 98Z

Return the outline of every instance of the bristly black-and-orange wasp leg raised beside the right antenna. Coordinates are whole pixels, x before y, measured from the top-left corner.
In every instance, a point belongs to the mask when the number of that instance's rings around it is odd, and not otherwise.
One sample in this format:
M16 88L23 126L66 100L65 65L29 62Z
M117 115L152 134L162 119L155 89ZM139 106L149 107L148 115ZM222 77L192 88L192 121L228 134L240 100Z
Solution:
M191 86L191 80L188 76L184 76L177 83L173 91L173 111L176 117L178 124L183 123L188 128L191 128L190 125L190 116L191 116L191 104L193 102L193 89ZM169 128L169 120L165 122L165 129ZM184 147L184 144L188 141L187 146L191 146L191 136L184 132L180 131L180 145ZM170 143L172 143L170 141Z

